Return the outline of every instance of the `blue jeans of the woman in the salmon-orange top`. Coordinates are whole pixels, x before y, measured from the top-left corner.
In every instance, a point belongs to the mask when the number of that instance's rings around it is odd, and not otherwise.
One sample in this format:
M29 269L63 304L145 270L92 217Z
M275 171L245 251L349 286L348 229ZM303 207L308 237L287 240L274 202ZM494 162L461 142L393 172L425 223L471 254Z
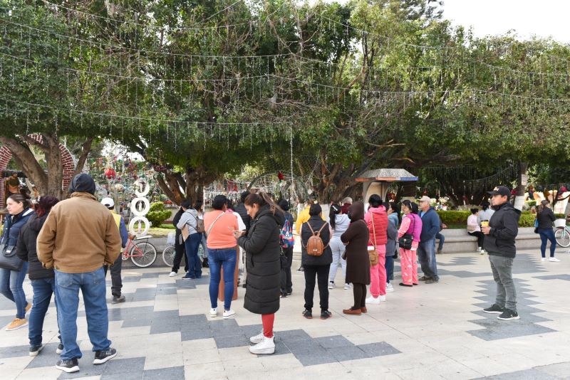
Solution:
M208 248L209 302L212 309L218 307L219 279L224 268L224 310L229 310L234 297L234 272L236 270L236 250L233 248Z

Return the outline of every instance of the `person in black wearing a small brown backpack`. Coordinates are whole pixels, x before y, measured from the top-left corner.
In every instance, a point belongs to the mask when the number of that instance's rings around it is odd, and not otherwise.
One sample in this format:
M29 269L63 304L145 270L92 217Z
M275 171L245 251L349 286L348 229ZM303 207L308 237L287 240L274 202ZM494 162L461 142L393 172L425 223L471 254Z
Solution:
M328 272L333 262L333 253L329 243L331 241L331 226L321 218L321 205L311 204L309 220L301 227L301 265L305 273L305 310L303 315L307 319L313 317L313 295L315 292L315 278L318 283L318 294L321 304L321 320L331 317L328 311Z

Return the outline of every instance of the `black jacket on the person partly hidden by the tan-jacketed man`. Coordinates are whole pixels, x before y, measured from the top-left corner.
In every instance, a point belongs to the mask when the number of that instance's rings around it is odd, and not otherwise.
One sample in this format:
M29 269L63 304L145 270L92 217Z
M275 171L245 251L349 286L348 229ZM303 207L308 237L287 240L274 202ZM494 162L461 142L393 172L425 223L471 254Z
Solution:
M20 230L16 255L18 255L21 260L30 263L28 267L28 277L30 280L39 280L41 278L51 278L54 276L53 269L43 268L43 265L41 265L41 262L38 260L38 253L36 252L36 239L47 217L47 214L38 217L36 213L33 213L28 219L28 223Z

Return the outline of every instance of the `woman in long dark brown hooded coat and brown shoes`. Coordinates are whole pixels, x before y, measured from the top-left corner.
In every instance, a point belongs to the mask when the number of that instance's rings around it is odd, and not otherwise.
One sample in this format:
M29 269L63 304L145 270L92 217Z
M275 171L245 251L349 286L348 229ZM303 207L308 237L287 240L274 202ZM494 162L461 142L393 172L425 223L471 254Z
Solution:
M353 283L354 305L344 314L361 315L366 312L366 285L370 284L368 258L368 225L364 221L364 204L354 202L348 209L351 225L341 236L346 244L346 282Z

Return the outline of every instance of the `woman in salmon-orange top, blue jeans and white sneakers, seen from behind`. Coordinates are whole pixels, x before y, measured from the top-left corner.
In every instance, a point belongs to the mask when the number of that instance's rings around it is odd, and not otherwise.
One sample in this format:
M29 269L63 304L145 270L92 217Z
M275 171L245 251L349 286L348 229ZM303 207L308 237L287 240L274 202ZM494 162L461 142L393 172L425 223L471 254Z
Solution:
M222 317L225 320L236 315L236 312L231 309L232 297L234 297L234 273L237 264L237 241L234 238L234 231L241 232L245 228L240 230L236 215L227 212L226 196L215 196L212 201L212 208L213 211L204 214L210 275L209 300L212 305L209 316L213 318L218 315L219 280L223 267L224 312Z

